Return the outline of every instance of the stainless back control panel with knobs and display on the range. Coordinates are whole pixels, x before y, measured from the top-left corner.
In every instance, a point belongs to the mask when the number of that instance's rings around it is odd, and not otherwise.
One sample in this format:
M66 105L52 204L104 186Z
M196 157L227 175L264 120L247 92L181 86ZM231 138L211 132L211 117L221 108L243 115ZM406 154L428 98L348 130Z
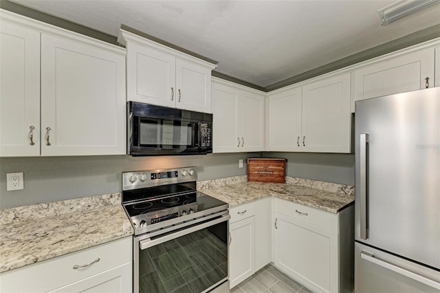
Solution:
M122 191L197 181L197 167L122 172Z

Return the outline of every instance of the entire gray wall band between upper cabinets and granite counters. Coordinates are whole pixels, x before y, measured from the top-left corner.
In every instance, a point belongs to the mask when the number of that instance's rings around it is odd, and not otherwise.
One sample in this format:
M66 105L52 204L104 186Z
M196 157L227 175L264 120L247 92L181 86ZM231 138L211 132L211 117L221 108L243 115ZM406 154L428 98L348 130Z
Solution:
M333 153L263 153L287 158L287 175L354 184L354 155ZM121 191L121 172L198 166L199 180L245 175L239 159L261 153L221 153L191 156L0 158L0 208L25 206ZM6 191L6 173L24 172L25 189Z

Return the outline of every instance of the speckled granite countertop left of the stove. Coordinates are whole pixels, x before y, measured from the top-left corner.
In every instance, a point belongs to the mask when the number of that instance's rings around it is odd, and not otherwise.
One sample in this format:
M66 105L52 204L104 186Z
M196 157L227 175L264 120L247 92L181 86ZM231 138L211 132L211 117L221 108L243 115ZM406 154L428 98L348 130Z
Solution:
M120 193L1 210L0 272L133 235Z

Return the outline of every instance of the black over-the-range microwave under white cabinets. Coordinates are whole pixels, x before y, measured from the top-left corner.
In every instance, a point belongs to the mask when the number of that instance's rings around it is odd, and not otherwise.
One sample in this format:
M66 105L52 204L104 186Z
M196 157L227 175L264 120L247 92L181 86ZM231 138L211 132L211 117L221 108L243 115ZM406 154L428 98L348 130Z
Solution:
M127 154L212 153L212 114L127 102Z

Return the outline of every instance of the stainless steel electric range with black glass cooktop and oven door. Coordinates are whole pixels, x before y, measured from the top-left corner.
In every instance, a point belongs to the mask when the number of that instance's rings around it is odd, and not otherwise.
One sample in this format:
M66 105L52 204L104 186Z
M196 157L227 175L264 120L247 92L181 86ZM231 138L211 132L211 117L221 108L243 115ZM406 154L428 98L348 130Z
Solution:
M228 204L197 191L197 167L122 173L133 291L229 292Z

